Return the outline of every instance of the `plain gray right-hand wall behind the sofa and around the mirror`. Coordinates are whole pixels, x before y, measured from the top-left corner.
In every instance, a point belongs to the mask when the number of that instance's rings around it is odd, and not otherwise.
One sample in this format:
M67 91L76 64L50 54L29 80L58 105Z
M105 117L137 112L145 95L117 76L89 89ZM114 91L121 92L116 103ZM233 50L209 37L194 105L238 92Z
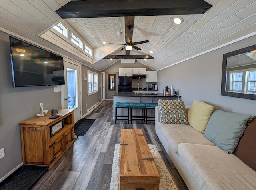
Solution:
M220 95L223 54L254 45L256 36L230 44L158 71L159 92L171 85L179 91L185 106L194 100L228 112L256 115L255 100Z

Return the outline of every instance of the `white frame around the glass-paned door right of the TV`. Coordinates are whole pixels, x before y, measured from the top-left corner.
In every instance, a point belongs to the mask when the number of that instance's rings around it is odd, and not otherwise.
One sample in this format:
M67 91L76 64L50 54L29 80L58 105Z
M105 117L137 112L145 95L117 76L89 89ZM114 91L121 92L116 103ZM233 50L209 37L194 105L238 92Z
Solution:
M78 66L79 67L79 70L80 70L80 72L79 73L77 73L78 74L78 80L79 80L79 82L78 82L78 98L79 98L79 102L80 102L80 110L81 110L81 112L80 112L80 119L82 119L82 113L83 113L83 107L82 107L82 78L81 78L81 70L82 70L82 65L81 64L79 64L78 62L75 62L75 61L73 61L73 60L70 60L70 59L68 59L68 58L63 58L63 61L64 61L64 64L65 64L65 62L68 62L68 63L70 63L70 64L74 64L74 65L76 65L76 66ZM67 76L65 76L65 78L66 78ZM64 88L64 85L61 85L62 87L62 89ZM66 95L65 94L63 94L63 90L61 90L61 108L63 109L64 108L64 98L66 97Z

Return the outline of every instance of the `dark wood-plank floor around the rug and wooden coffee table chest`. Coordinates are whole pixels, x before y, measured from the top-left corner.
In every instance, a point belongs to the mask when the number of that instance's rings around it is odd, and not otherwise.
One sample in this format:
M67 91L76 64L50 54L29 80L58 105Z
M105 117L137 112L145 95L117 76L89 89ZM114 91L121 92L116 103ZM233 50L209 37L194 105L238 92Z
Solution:
M96 119L84 136L56 162L53 168L34 185L38 190L108 190L110 187L114 146L120 143L120 129L142 129L148 144L157 146L176 186L187 190L178 171L155 134L154 121L113 120L113 101L103 101L87 119Z

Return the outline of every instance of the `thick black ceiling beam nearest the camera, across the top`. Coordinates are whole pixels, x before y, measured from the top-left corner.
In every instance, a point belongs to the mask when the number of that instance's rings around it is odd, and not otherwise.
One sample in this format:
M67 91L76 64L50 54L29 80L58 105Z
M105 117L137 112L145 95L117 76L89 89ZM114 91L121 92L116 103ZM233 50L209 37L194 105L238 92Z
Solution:
M56 13L61 18L204 14L204 0L82 0L70 1Z

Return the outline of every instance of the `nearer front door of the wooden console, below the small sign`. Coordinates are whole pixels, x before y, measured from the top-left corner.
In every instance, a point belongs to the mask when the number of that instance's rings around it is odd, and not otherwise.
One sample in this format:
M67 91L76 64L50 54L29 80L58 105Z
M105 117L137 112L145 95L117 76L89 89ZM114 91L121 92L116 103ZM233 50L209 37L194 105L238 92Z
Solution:
M50 156L50 164L60 156L60 154L64 151L64 140L63 135L57 138L52 144L49 146L49 156Z

